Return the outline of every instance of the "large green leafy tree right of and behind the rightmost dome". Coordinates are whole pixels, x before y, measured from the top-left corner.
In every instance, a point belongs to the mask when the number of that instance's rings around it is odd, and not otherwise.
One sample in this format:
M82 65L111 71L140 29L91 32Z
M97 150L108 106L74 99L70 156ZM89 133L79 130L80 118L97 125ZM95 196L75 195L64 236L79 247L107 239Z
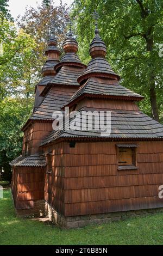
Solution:
M109 62L122 76L122 85L146 97L140 108L155 120L163 112L163 63L158 54L163 41L162 5L161 0L75 0L72 10L82 58L88 58L83 48L92 39L94 21L90 14L97 9Z

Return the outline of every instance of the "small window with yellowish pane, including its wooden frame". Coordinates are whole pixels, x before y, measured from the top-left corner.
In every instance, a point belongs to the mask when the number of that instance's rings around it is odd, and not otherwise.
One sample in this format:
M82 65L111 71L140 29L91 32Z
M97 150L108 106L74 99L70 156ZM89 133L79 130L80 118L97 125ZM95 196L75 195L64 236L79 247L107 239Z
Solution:
M118 170L137 169L135 144L117 144Z

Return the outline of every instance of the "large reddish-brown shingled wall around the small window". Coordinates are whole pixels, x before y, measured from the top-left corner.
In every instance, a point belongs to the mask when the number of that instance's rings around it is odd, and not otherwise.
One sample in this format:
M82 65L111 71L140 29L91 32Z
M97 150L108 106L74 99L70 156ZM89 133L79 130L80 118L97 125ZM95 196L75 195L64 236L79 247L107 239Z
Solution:
M55 154L53 185L54 200L64 202L65 216L163 207L158 198L163 143L135 143L139 145L137 170L117 170L115 142L78 142L75 148L63 144L62 154Z

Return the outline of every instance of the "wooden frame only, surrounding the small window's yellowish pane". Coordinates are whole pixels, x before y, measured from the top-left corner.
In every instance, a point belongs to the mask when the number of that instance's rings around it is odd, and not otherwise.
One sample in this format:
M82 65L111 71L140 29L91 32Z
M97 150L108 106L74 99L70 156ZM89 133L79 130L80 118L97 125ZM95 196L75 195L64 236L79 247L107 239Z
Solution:
M137 147L139 147L137 144L116 144L117 147L117 167L118 170L135 170L138 169L137 167ZM126 164L126 165L121 165L118 160L119 160L119 153L120 153L120 148L130 148L132 152L132 162L133 164Z

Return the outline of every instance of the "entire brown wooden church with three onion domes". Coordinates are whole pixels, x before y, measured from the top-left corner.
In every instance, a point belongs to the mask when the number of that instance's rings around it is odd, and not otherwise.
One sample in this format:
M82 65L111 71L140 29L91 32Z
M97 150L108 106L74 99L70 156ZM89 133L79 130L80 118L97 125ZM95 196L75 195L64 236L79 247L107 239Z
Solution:
M42 214L60 227L77 228L162 211L163 125L137 107L142 96L120 85L97 25L87 66L71 31L62 48L60 59L52 35L33 114L22 128L22 155L10 163L17 214ZM110 135L89 130L87 118L81 130L80 115L76 130L53 130L53 112L65 107L70 115L109 111Z

